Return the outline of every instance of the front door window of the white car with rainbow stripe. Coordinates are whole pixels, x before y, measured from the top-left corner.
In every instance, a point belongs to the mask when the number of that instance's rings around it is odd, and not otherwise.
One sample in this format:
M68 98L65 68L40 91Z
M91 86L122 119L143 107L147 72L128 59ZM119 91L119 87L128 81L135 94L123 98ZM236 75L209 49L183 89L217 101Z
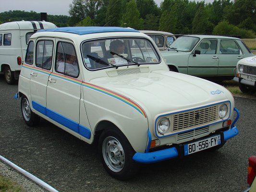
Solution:
M64 75L78 77L78 61L75 53L75 48L71 43L58 43L55 71L60 72Z

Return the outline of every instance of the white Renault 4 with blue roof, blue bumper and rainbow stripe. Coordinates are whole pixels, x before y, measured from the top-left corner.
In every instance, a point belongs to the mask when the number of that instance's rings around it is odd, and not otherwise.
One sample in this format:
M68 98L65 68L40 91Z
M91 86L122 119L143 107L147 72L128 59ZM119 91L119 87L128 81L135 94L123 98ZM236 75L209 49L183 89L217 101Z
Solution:
M41 117L88 144L99 136L103 166L119 180L140 163L216 150L238 134L227 89L170 72L154 41L131 28L37 32L16 98L30 126Z

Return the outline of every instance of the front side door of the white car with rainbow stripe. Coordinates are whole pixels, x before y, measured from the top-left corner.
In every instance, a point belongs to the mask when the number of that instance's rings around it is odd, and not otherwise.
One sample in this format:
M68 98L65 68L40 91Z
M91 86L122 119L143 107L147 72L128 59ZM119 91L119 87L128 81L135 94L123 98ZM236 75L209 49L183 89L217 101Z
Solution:
M73 43L56 39L55 55L47 86L48 117L75 134L79 132L82 77Z

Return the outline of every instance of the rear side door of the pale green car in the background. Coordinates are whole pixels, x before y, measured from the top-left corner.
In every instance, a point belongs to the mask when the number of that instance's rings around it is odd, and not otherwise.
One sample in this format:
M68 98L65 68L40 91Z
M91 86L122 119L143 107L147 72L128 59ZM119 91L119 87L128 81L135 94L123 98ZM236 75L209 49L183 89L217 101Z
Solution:
M243 52L234 40L221 39L219 45L218 75L234 76L237 61L244 58Z

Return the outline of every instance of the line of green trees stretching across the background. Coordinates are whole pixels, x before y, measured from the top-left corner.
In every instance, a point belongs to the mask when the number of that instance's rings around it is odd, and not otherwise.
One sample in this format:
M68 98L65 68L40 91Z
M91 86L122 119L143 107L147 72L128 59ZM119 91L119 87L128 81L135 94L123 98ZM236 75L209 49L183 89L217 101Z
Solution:
M73 0L70 16L48 15L57 26L122 26L173 34L240 35L255 38L256 0ZM0 23L40 20L40 13L0 13Z

